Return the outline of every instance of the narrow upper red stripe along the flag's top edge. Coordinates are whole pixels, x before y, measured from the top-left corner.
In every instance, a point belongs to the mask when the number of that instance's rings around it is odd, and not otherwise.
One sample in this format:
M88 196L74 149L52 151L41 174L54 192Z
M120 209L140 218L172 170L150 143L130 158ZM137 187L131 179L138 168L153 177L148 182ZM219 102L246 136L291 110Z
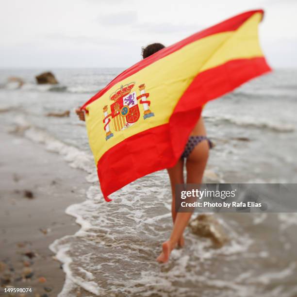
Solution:
M105 92L107 92L112 86L114 86L116 83L121 82L125 78L133 75L134 73L140 71L141 69L147 67L148 65L170 55L171 53L183 48L189 43L192 43L194 41L197 41L198 39L207 37L209 35L213 35L216 33L221 32L229 32L229 31L235 31L238 29L250 16L254 15L255 13L262 13L264 15L264 11L262 9L260 10L252 10L247 11L245 13L242 13L237 16L233 16L221 23L218 23L212 27L209 27L205 30L202 30L198 33L195 33L180 42L177 42L169 47L166 47L164 49L161 49L154 53L153 55L149 56L146 59L141 60L140 62L134 64L130 68L126 69L122 73L120 73L117 77L115 77L114 80L112 80L106 87L104 87L102 90L100 90L96 95L94 95L91 99L89 99L86 103L84 103L81 107L81 110L85 109L87 105L89 105L91 102L95 101L99 97L101 97Z

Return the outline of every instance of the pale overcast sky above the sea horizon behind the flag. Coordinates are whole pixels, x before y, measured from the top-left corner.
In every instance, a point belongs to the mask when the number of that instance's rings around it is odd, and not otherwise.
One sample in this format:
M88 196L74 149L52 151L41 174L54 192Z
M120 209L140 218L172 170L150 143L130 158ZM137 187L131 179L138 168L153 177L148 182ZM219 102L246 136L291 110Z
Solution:
M142 46L257 8L271 66L297 67L297 0L0 0L0 67L129 67Z

